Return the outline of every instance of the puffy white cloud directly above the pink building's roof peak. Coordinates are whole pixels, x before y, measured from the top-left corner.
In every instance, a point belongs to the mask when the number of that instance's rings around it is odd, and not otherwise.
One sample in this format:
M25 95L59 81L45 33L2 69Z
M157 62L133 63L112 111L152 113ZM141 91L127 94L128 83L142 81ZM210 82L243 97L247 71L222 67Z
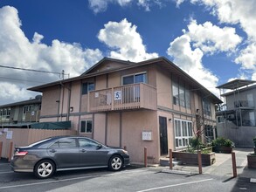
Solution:
M156 58L158 54L147 53L146 46L142 44L142 37L136 31L136 26L128 23L125 18L121 22L108 22L104 24L98 38L109 48L111 58L120 58L131 61L142 61L149 58Z

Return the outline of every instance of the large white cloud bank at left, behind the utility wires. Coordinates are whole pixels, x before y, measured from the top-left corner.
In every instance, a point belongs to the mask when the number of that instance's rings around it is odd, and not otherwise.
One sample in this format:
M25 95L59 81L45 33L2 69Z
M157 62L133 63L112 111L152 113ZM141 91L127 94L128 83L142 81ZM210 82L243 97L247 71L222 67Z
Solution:
M44 36L38 32L35 32L30 42L21 30L17 10L10 6L0 9L0 26L0 65L3 66L51 72L65 70L73 77L85 72L102 58L100 50L82 49L80 44L69 44L54 39L52 45L45 45L41 43ZM25 72L3 67L0 70L0 78L0 105L6 103L6 98L10 102L29 99L35 93L25 93L26 88L59 79L57 75L48 73Z

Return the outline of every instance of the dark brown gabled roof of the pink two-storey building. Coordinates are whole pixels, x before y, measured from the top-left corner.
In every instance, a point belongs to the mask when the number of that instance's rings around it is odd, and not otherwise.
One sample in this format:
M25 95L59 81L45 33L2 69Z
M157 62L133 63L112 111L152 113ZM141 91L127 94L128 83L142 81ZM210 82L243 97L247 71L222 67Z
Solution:
M120 63L121 65L119 65L118 67L115 67L115 68L97 70L98 68L100 68L100 65L105 65L108 62ZM174 72L179 76L182 76L183 79L186 79L187 81L189 81L191 83L191 85L193 85L193 88L195 90L199 90L200 93L205 94L205 98L207 97L208 99L211 99L211 101L213 103L216 103L216 104L222 103L221 99L218 99L217 96L215 96L208 89L206 89L204 86L199 84L197 82L197 80L190 77L190 75L187 74L186 72L183 72L183 70L181 68L179 68L177 65L175 65L168 58L165 58L165 57L152 58L152 59L145 60L145 61L138 62L138 63L130 62L130 61L123 61L123 60L114 59L114 58L103 58L97 64L93 65L90 69L88 69L86 72L82 73L78 77L74 77L74 78L70 78L70 79L63 79L63 80L55 81L55 82L48 83L48 84L45 84L45 85L42 85L42 86L34 86L34 87L31 87L31 88L28 88L28 90L35 91L35 92L43 92L43 90L46 87L49 87L49 86L57 86L57 85L72 82L72 81L75 81L75 80L81 80L81 79L96 77L96 76L99 76L99 75L102 75L102 74L107 74L107 73L110 73L110 72L118 72L118 71L130 69L130 68L134 68L134 67L137 67L137 66L154 65L154 64L166 67L166 69L170 70L171 72Z

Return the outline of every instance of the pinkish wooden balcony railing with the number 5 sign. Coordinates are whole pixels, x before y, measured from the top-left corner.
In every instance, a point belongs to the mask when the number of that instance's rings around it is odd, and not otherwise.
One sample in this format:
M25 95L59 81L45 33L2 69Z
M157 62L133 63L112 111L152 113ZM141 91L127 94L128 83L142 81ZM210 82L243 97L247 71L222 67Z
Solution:
M145 108L156 110L156 87L133 84L89 93L90 112Z

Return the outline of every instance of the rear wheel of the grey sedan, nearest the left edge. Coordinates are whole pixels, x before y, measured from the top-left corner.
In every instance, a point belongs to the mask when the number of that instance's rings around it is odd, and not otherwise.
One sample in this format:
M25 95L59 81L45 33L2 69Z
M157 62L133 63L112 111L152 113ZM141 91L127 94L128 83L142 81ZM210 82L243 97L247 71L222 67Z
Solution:
M50 160L39 161L34 169L34 174L39 179L51 177L55 172L55 165Z

